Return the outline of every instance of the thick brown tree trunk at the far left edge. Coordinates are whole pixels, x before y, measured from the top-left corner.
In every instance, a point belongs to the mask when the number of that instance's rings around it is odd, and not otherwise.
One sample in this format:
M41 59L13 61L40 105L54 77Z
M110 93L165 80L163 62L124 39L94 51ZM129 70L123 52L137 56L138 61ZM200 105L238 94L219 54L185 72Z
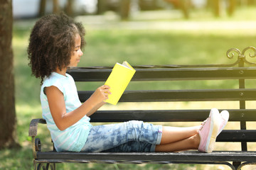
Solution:
M17 147L14 103L14 55L12 1L0 0L0 149Z

